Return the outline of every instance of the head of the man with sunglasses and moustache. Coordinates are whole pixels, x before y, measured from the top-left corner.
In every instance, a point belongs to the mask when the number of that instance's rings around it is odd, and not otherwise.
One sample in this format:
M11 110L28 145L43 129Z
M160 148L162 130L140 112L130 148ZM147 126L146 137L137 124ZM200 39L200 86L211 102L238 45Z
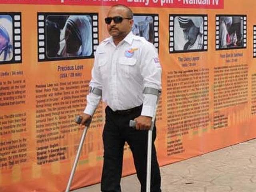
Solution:
M133 25L132 10L124 5L112 6L105 18L108 33L114 39L122 40L132 29Z

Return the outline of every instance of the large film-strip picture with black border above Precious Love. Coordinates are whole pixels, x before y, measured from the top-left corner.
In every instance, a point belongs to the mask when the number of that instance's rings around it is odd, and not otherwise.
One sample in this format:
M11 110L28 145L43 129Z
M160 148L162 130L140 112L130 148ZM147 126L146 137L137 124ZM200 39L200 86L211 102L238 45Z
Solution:
M83 54L77 54L77 55L57 55L57 56L49 56L48 54L48 48L47 46L47 38L50 38L51 34L49 34L49 37L47 37L47 28L46 28L46 20L48 17L56 17L56 18L66 18L66 20L69 18L69 16L82 16L82 17L87 17L90 18L90 27L91 31L88 31L91 34L91 39L92 42L89 42L91 44L90 46L90 51L87 51L87 53ZM82 20L82 19L80 19ZM82 22L82 21L80 21ZM73 22L75 25L75 22ZM60 30L63 30L64 24L62 25L62 28ZM84 29L78 29L78 27L73 30L73 33L81 33L79 30L86 30ZM87 33L88 33L87 32ZM82 36L82 34L81 34ZM62 37L64 38L64 36ZM61 40L60 40L61 41ZM81 46L86 46L82 45L83 40L81 41ZM62 13L62 12L39 12L38 13L38 62L41 61L53 61L53 60L71 60L71 59L84 59L84 58L94 58L94 52L96 51L97 47L99 44L98 40L98 13ZM83 49L83 48L82 48ZM89 52L89 53L88 53Z

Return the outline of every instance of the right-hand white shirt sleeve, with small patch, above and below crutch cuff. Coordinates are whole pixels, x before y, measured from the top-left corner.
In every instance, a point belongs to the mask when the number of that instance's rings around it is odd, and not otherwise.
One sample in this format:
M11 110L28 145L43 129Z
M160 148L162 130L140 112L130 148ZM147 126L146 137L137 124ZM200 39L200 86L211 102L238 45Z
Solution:
M147 42L140 52L140 70L143 76L143 84L145 87L162 89L161 73L162 68L158 58L158 53L153 44ZM154 116L156 108L157 96L153 94L144 94L143 107L141 115Z

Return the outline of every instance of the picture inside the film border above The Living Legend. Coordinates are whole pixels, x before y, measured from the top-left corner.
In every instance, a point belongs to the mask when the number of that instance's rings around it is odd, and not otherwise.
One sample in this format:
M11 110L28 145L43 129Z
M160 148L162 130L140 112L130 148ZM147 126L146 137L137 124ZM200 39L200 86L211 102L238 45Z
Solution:
M174 50L202 50L204 48L202 16L174 18Z

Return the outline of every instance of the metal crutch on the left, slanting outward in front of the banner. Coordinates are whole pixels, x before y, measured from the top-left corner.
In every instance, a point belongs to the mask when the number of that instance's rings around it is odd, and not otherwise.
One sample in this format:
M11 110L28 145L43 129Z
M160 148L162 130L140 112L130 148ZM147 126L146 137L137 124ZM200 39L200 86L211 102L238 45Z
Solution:
M82 121L82 117L81 116L76 116L76 123L80 124L81 121ZM72 166L72 170L71 170L71 173L70 173L70 176L69 176L69 179L68 179L68 184L66 186L65 192L69 192L69 190L70 190L70 186L71 186L71 183L72 183L75 171L76 171L76 166L77 166L80 154L81 154L82 146L84 144L84 139L85 139L85 136L86 136L86 132L87 132L89 126L90 126L91 121L92 121L92 118L90 118L90 120L88 120L85 123L84 131L83 131L83 134L81 136L81 140L80 140L80 144L78 146L78 150L76 152L76 158L75 158L73 166Z

